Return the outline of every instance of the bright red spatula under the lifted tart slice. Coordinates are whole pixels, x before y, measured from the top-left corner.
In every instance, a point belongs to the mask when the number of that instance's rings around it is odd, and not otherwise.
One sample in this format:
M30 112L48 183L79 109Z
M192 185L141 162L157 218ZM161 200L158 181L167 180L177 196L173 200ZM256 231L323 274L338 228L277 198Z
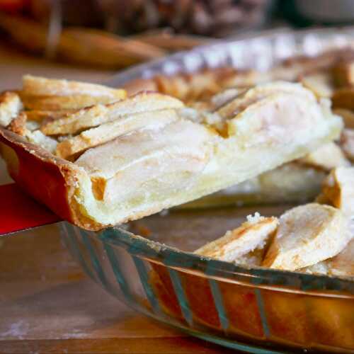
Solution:
M23 193L16 183L0 185L0 236L58 221L57 215Z

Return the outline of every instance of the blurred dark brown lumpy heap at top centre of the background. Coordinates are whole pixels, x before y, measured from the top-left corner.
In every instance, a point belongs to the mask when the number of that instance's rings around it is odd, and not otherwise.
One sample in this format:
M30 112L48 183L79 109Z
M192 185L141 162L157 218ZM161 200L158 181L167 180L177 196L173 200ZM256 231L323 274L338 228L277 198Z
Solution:
M108 30L121 34L159 27L221 37L265 22L269 0L97 0Z

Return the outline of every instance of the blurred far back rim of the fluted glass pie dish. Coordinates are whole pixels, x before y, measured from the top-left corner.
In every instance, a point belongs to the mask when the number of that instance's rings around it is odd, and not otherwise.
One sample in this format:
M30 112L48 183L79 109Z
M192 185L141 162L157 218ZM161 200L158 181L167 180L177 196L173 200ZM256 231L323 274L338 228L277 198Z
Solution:
M324 50L319 50L318 47L315 49L314 48L311 49L310 45L314 44L314 38L312 37L313 35L325 36L326 40L331 39L331 43L326 44L327 47L325 47ZM331 38L331 36L333 38ZM309 39L304 47L303 42L306 37ZM212 40L210 44L200 45L198 47L193 48L193 50L183 50L171 55L167 55L166 57L154 59L147 63L135 65L130 69L125 69L122 72L119 72L118 74L111 76L110 79L104 82L104 84L107 86L118 87L118 86L123 86L124 84L127 84L127 82L134 79L151 79L156 74L173 75L180 72L185 72L185 69L187 69L187 72L185 73L191 74L205 67L209 67L209 68L220 67L219 65L216 64L213 65L210 62L203 61L200 66L195 66L194 68L185 68L183 67L183 61L185 57L188 55L203 56L206 54L205 52L211 52L212 50L219 49L220 47L225 47L225 46L232 47L232 45L235 44L241 44L241 43L244 44L244 42L249 40L256 41L256 42L258 40L259 41L263 40L265 42L267 41L272 42L279 39L281 44L285 46L289 45L289 43L286 43L286 40L291 40L292 45L294 45L295 52L287 52L278 56L272 55L272 62L270 63L271 65L269 65L268 67L263 67L261 68L261 70L265 71L266 69L272 67L274 64L278 64L282 60L290 59L295 56L304 55L307 57L315 57L316 55L326 52L327 50L341 49L350 46L354 47L354 25L336 26L331 28L316 27L316 28L302 29L302 30L293 30L287 27L275 28L270 30L263 30L261 33L244 33L241 35L233 36L232 38L228 38L225 40ZM259 45L260 43L261 42L258 42L256 44ZM279 43L278 44L275 43L275 45L279 45ZM169 64L170 67L167 66L168 69L166 70L166 72L161 72L161 69L163 69L164 65L166 66L166 63L171 63ZM172 63L175 64L176 66L173 67ZM237 62L232 63L231 66L236 69L239 68ZM255 68L251 65L251 62L247 62L246 66L241 67L241 69L255 69Z

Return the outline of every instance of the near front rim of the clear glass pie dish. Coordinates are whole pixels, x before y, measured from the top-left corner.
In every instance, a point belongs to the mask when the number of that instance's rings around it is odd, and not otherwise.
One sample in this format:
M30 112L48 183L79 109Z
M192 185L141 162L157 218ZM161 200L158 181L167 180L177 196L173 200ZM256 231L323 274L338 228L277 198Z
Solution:
M76 226L72 225L72 227ZM235 263L181 251L159 241L133 234L121 227L108 227L100 232L80 230L95 239L99 239L103 244L122 247L132 256L138 256L152 263L159 263L185 273L195 273L204 278L236 282L248 287L282 292L354 299L354 281L348 277L236 265Z

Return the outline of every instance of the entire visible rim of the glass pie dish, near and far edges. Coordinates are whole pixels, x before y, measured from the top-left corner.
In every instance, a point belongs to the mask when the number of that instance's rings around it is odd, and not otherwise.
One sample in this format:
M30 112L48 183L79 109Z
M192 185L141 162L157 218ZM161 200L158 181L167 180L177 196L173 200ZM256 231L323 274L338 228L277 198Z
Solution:
M105 84L118 87L124 86L127 82L135 79L151 79L156 74L191 74L200 69L226 65L236 69L260 69L259 65L255 67L254 62L238 65L236 59L230 58L230 55L238 55L238 52L241 52L242 45L253 46L253 51L257 46L259 52L268 50L268 62L263 61L263 67L261 67L261 70L266 70L292 57L314 57L329 50L354 47L354 26L306 30L277 28L265 30L258 34L246 33L228 40L215 40L208 45L202 45L193 50L178 52L132 67L114 75ZM282 46L284 47L281 53L279 48ZM286 48L288 49L287 52ZM219 58L210 59L208 58L210 52L221 52L222 55L219 55ZM194 64L193 58L195 60ZM216 277L229 281L244 278L248 285L271 287L272 290L278 287L278 290L303 292L307 295L312 293L312 295L330 297L343 295L354 298L354 278L350 277L298 273L263 267L249 268L184 252L132 234L120 227L110 227L94 234L98 235L103 242L125 247L129 253L148 258L156 263L164 263L171 268L196 271L207 278Z

